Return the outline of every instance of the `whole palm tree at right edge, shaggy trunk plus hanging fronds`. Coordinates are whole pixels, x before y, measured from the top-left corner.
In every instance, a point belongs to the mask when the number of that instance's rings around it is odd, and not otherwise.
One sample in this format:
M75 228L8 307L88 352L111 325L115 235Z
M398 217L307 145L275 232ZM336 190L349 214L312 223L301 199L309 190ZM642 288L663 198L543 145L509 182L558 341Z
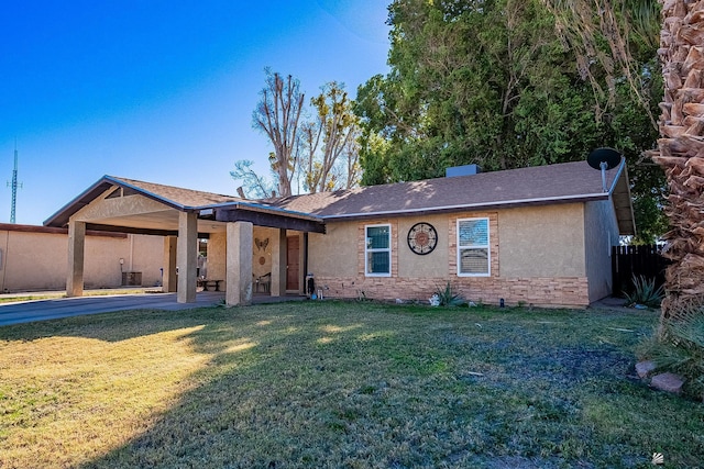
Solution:
M658 55L664 78L659 119L661 138L652 159L666 171L669 197L666 213L671 230L664 255L672 260L666 273L661 324L691 319L704 309L704 0L542 0L556 16L562 37L582 52L586 70L602 64L606 80L616 74L637 83L629 66L629 35L648 41L653 22L661 30ZM661 3L661 9L658 8ZM594 9L598 9L595 11ZM660 11L661 10L661 11ZM658 13L661 12L661 21ZM657 30L656 30L657 31ZM605 38L609 53L597 47ZM588 62L592 60L592 62ZM590 76L592 85L594 78ZM635 88L637 91L637 87ZM596 91L596 90L595 90ZM662 328L661 328L662 331Z

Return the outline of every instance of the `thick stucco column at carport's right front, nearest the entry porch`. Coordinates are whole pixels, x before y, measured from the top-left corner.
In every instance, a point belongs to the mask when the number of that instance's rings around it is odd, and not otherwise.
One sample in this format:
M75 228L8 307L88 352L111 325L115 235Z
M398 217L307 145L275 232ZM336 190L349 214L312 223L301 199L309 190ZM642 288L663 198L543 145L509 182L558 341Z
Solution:
M250 222L228 223L226 303L228 306L252 304L253 225Z

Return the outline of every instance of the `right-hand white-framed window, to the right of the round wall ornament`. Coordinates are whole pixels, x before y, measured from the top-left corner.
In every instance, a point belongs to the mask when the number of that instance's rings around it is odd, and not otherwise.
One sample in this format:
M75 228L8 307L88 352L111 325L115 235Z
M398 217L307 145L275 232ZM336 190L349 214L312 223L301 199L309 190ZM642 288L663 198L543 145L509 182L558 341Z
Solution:
M490 275L488 219L458 220L458 276Z

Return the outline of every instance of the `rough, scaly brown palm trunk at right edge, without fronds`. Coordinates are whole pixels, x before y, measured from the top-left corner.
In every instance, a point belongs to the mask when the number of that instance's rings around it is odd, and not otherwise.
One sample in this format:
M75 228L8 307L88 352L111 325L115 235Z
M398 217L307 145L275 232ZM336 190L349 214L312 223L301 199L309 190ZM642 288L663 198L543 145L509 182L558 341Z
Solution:
M671 231L664 255L662 321L686 319L704 305L704 0L662 0L658 54L664 77L653 160L666 171Z

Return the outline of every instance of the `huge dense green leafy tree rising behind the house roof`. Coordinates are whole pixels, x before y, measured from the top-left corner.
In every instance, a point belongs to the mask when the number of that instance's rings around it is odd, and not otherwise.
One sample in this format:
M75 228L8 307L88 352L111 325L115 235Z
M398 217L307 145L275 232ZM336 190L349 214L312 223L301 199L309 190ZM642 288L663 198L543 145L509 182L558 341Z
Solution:
M582 160L613 146L632 169L638 213L657 216L645 209L662 171L636 165L658 135L649 119L661 93L654 44L628 35L637 99L623 67L575 67L579 51L540 0L396 0L388 23L391 72L356 98L362 183L438 177L469 163L495 170ZM608 51L598 29L588 31Z

